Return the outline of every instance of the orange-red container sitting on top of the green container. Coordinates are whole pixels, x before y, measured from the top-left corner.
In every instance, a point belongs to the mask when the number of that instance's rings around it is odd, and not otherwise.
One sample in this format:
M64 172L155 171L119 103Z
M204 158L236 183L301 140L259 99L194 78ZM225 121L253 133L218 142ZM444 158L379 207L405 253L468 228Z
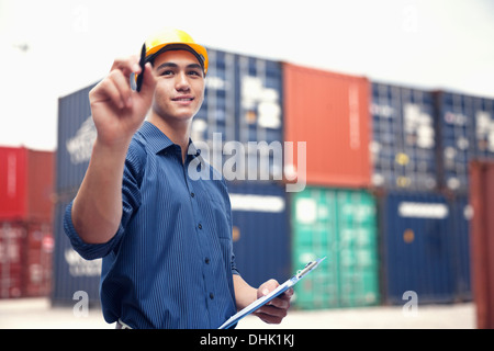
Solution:
M284 64L284 140L306 143L284 167L311 185L369 186L369 99L367 78Z

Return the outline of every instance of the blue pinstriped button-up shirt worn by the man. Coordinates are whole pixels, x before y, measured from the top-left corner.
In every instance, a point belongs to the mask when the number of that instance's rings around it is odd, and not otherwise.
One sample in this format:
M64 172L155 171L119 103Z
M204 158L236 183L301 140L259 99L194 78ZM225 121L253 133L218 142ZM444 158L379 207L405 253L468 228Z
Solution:
M226 184L191 148L195 155L182 163L180 147L143 124L125 161L122 222L106 244L83 242L71 222L72 204L67 206L64 225L74 249L89 260L103 258L100 295L108 322L217 328L236 313ZM195 158L210 180L190 177Z

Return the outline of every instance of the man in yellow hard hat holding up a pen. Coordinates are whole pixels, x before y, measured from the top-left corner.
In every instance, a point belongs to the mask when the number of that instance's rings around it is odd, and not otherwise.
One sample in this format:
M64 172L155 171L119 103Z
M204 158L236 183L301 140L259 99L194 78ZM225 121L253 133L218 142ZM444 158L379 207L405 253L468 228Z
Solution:
M242 279L224 180L189 174L190 162L201 158L189 134L204 99L205 48L177 30L158 33L146 47L144 71L137 57L116 59L89 93L98 136L79 192L67 206L65 230L82 257L103 258L108 322L217 328L278 282L254 288ZM142 75L139 92L131 88L133 72ZM202 158L194 165L216 172ZM279 324L292 294L257 316Z

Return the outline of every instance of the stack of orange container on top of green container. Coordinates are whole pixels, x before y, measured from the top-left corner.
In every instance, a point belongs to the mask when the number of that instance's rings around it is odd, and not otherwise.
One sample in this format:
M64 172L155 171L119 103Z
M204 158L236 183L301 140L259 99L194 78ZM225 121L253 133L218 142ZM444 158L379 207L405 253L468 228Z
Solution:
M295 285L299 308L379 303L377 213L369 157L369 81L283 65L284 138L306 143L295 158L307 186L292 193L292 261L327 257ZM301 174L305 161L305 174Z

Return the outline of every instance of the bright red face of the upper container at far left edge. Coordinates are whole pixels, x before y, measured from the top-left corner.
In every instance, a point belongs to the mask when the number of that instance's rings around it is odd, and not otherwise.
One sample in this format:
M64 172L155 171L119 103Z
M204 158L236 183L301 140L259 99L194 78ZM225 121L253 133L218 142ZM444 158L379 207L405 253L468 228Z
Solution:
M27 154L25 148L0 148L0 218L20 219L26 213Z

